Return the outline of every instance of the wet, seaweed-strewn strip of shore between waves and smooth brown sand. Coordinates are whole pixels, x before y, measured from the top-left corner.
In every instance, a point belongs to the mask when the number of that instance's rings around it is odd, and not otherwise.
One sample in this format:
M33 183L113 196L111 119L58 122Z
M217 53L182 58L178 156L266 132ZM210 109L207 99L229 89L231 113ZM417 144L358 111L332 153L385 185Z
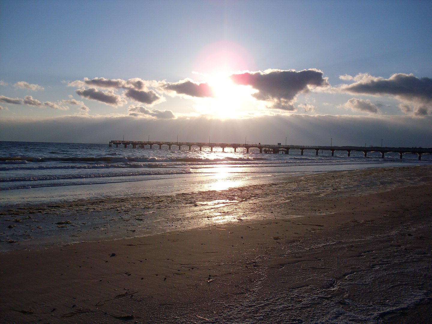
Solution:
M422 184L431 170L430 166L415 166L333 171L224 191L90 199L12 209L6 206L0 209L0 239L16 242L2 243L1 250L107 241L277 218L277 206L286 205L290 205L290 218L316 216L330 212L328 208L313 211L311 201ZM269 208L274 210L270 212Z

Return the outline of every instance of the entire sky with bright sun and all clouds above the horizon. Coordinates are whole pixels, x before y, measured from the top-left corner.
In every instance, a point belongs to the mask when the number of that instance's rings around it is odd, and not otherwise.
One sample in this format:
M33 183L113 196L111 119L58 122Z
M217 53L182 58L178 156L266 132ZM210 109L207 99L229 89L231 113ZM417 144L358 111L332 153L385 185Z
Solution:
M0 140L432 147L432 1L0 0Z

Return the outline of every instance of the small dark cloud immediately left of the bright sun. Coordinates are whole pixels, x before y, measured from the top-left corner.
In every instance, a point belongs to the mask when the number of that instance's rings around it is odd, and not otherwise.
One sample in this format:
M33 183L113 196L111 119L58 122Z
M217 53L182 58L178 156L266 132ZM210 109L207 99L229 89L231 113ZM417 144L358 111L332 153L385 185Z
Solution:
M198 98L214 98L213 89L208 83L196 83L191 79L184 79L175 83L162 83L159 89L168 92L168 94L186 95Z

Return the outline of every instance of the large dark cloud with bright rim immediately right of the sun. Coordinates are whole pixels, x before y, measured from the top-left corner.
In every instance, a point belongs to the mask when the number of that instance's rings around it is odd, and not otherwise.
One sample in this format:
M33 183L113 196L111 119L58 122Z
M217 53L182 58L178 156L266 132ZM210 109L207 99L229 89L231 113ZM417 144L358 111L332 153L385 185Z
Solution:
M309 92L315 87L327 87L328 78L320 70L302 71L269 69L264 72L232 74L232 81L238 85L252 86L258 90L252 96L267 102L268 108L296 111L293 103L301 92Z

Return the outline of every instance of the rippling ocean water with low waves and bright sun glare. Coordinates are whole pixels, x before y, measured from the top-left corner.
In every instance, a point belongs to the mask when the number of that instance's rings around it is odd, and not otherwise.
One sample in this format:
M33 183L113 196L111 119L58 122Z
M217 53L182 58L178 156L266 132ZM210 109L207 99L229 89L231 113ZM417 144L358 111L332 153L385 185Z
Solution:
M245 151L245 150L244 150ZM432 155L291 149L285 154L108 147L107 144L0 142L0 202L44 203L137 193L223 190L311 172L431 164Z

